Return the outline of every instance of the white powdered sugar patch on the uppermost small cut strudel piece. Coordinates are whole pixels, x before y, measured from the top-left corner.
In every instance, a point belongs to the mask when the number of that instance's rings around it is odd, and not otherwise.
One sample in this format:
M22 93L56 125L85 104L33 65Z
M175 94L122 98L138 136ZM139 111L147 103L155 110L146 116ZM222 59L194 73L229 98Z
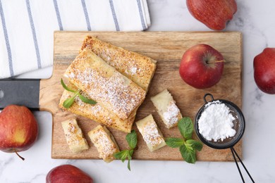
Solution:
M167 111L164 113L166 127L171 128L178 122L178 113L180 113L180 110L176 106L176 102L170 101Z

